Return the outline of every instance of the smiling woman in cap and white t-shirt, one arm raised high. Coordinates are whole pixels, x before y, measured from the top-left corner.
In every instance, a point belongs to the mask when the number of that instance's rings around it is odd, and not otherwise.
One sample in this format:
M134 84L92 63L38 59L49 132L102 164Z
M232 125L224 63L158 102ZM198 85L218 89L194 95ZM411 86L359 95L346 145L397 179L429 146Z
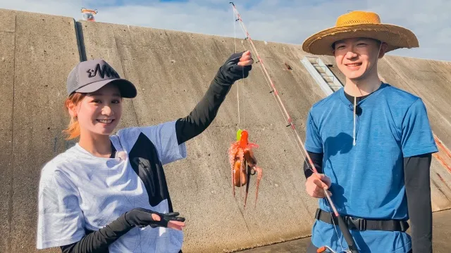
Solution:
M185 142L211 124L252 63L249 51L230 56L187 117L114 135L122 100L137 95L135 86L104 60L75 66L67 82L71 120L65 132L80 141L42 169L37 248L181 252L185 219L173 212L162 166L186 157Z

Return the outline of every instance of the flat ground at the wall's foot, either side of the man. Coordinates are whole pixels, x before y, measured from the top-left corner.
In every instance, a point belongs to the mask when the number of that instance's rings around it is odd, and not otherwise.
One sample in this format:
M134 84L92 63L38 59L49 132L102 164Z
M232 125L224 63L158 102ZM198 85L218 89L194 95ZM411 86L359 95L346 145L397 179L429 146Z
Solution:
M410 228L407 231L410 233ZM451 252L449 241L451 235L451 210L433 213L433 252ZM275 245L258 247L256 249L242 250L240 253L306 253L310 244L310 238L302 238L289 242L282 242Z

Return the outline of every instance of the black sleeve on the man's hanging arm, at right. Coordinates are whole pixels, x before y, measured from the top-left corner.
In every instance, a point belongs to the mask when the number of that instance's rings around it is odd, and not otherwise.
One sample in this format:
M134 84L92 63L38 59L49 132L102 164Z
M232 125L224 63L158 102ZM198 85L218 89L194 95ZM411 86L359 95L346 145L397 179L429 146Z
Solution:
M412 252L432 252L431 154L404 158Z

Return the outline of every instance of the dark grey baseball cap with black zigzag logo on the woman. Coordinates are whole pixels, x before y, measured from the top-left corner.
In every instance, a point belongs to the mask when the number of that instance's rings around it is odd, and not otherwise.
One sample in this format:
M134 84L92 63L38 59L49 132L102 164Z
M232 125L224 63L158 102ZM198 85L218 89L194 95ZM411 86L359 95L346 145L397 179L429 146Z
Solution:
M137 94L135 85L119 77L118 72L105 60L82 61L69 73L67 81L68 96L74 92L94 92L111 83L118 86L123 98L135 98Z

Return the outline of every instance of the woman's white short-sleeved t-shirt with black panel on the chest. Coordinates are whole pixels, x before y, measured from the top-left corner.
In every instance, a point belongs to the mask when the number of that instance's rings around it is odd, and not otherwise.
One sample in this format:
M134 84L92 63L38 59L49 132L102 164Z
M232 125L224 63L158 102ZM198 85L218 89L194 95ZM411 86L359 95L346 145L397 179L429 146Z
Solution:
M173 211L162 165L186 157L185 143L178 145L175 121L121 129L111 142L125 159L95 157L77 143L44 165L38 249L78 242L85 230L98 231L135 207ZM176 253L182 243L182 231L135 227L113 242L109 252Z

